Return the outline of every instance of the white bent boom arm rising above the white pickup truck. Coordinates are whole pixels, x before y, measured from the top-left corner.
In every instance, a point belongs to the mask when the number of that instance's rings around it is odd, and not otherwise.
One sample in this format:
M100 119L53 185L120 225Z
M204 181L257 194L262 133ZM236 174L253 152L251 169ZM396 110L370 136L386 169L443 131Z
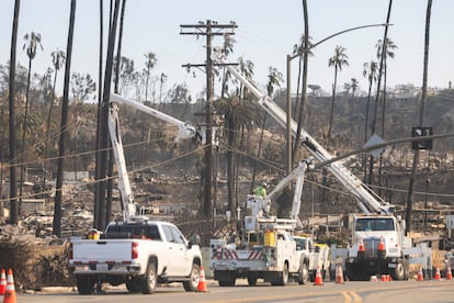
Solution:
M137 204L134 201L134 194L130 189L129 178L126 169L125 155L123 152L122 135L120 131L118 103L135 108L157 119L177 125L179 127L179 132L175 138L177 143L180 139L188 138L202 141L203 135L200 132L197 132L195 127L189 125L188 123L182 122L178 119L174 119L168 114L164 114L149 106L146 106L141 103L129 100L127 98L123 98L115 93L111 93L110 98L111 99L109 108L107 126L111 136L112 148L114 152L115 162L118 170L118 190L122 194L123 218L124 221L129 221L137 214Z

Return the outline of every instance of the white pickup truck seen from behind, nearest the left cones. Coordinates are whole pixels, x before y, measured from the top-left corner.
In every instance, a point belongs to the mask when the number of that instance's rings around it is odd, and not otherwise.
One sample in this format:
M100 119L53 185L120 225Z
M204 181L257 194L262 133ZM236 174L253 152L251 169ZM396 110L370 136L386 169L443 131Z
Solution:
M149 294L158 283L182 282L196 291L201 265L198 245L168 222L112 222L99 239L70 242L69 268L80 294L101 283L126 283L129 292Z

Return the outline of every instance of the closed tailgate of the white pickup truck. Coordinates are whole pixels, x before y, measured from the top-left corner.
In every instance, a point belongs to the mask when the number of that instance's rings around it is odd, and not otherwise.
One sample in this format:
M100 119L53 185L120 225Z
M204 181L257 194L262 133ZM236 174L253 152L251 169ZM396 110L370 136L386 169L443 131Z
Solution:
M132 260L133 240L101 239L72 240L72 260L90 261L124 261Z

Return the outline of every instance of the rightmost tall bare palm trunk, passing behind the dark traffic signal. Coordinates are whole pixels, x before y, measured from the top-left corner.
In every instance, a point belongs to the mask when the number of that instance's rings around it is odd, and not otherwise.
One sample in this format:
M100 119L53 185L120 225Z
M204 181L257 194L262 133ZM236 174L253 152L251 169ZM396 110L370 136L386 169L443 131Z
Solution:
M424 38L424 66L422 71L422 91L421 91L421 106L419 112L419 125L424 125L425 116L425 98L428 91L428 66L429 66L429 45L430 45L430 18L432 13L432 0L428 0L428 7L425 10L425 38ZM412 211L413 211L413 191L415 191L415 177L416 170L419 162L419 149L415 150L413 165L411 167L410 183L408 188L408 200L407 200L407 213L406 221L407 227L406 232L412 229Z

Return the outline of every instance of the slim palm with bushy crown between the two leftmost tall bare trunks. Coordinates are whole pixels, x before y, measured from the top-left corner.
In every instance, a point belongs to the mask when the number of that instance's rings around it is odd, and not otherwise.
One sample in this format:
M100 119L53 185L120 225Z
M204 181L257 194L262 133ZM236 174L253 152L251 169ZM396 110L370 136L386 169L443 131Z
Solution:
M41 44L41 34L36 34L32 32L24 36L25 43L23 49L26 50L26 55L29 57L29 77L26 81L26 94L25 94L25 113L24 120L22 122L22 152L21 152L21 186L19 190L19 197L22 201L22 184L23 184L23 173L24 173L24 153L25 153L25 132L27 130L26 121L29 119L29 103L30 103L30 85L31 85L31 76L32 76L32 61L36 57L37 46L41 47L43 50L43 45Z

